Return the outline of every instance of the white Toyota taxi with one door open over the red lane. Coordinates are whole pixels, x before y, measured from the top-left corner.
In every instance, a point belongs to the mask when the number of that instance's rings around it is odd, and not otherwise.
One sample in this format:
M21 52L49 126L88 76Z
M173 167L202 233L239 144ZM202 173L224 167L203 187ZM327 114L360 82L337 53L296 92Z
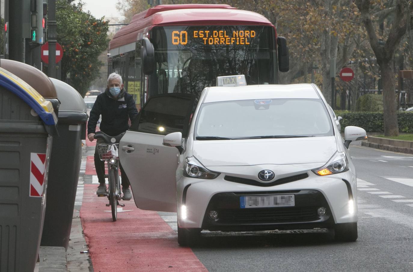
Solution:
M202 230L323 228L357 239L356 170L314 84L153 95L120 142L140 209L177 212L178 243Z

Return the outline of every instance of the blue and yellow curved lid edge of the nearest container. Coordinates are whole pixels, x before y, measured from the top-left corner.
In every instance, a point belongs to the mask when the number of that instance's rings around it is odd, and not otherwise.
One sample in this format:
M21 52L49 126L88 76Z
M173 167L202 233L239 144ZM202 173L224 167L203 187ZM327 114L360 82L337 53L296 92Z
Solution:
M56 126L57 116L53 111L52 103L45 100L43 96L25 81L11 72L0 68L0 86L5 87L26 102L39 115L46 126ZM47 128L46 130L49 134L52 134Z

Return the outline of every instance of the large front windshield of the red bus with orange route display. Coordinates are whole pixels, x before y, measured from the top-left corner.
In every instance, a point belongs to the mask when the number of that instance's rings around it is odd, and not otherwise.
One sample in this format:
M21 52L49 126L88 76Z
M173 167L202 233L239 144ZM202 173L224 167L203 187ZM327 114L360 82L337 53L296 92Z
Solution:
M247 84L276 83L275 31L271 26L166 26L151 33L156 69L150 95L199 97L216 77L244 74Z

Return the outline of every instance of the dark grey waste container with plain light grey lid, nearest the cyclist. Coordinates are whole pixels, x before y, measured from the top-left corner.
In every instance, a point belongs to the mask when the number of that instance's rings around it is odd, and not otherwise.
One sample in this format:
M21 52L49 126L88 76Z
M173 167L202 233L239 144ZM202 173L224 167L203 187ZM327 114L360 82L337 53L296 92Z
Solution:
M81 95L63 81L52 79L60 100L59 137L53 139L47 182L42 246L69 244L74 202L81 165L81 144L86 137L86 105Z

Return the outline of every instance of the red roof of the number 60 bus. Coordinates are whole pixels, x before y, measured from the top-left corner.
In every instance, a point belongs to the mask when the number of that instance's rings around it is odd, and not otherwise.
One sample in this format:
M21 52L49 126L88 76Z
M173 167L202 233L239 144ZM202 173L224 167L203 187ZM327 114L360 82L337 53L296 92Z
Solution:
M138 32L159 25L272 25L256 12L236 9L230 5L158 5L135 14L109 42L109 50L138 40Z

